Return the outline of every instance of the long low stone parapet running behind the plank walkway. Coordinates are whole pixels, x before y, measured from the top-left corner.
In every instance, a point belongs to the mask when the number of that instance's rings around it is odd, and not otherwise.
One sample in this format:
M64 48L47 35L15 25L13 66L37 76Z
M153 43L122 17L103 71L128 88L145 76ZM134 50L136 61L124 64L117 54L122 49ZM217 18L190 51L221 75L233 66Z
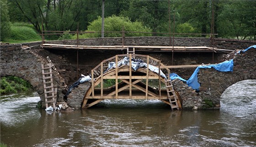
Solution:
M172 39L172 38L171 38ZM41 44L42 42L22 43L27 46L34 46ZM77 45L77 40L59 40L59 41L46 41L45 43L51 44L66 44ZM253 42L235 42L235 41L213 41L213 47L220 49L245 49L254 45ZM86 38L79 39L78 45L88 46L108 46L108 45L122 45L122 37L112 38ZM170 46L170 37L125 37L124 45L136 45L136 46ZM172 46L172 40L171 40ZM210 38L200 37L175 37L174 46L207 46L211 47Z

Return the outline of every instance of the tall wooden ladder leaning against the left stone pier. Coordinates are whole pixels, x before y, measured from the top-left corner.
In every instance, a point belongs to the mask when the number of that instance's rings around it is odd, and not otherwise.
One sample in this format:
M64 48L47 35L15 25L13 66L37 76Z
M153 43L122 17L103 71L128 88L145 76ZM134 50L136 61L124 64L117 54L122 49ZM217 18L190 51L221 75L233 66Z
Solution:
M42 64L42 74L45 106L46 108L48 108L51 105L53 109L55 109L57 88L54 88L53 86L53 74L51 64L47 64L46 66Z

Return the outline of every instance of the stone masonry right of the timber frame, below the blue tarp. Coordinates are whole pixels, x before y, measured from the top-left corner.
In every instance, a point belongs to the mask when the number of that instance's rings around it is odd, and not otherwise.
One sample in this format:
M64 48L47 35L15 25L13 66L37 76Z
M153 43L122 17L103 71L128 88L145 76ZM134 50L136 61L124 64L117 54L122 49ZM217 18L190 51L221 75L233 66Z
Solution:
M220 96L225 89L242 80L256 79L255 48L251 48L245 53L235 54L233 61L233 72L219 72L214 68L201 68L198 72L198 82L201 84L198 93L179 79L173 80L174 88L183 100L183 109L192 109L194 106L199 109L218 108L220 107Z

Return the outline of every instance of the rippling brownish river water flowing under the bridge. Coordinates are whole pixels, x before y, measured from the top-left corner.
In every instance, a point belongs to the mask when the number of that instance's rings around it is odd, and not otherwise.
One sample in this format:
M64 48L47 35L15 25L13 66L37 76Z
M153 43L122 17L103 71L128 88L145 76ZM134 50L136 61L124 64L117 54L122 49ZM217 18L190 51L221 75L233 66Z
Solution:
M222 94L220 110L174 110L158 100L104 100L47 113L37 93L1 96L0 141L13 147L256 147L256 80Z

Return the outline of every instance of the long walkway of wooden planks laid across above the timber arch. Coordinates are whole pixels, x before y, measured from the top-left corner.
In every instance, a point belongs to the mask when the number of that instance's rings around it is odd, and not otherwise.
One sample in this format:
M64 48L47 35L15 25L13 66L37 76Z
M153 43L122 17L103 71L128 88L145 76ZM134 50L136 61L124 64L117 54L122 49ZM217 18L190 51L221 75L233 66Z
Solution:
M218 52L233 51L222 50L213 47L178 47L178 46L81 46L81 45L64 45L64 44L42 44L41 47L48 49L87 49L87 50L123 50L134 48L135 51L148 52Z

